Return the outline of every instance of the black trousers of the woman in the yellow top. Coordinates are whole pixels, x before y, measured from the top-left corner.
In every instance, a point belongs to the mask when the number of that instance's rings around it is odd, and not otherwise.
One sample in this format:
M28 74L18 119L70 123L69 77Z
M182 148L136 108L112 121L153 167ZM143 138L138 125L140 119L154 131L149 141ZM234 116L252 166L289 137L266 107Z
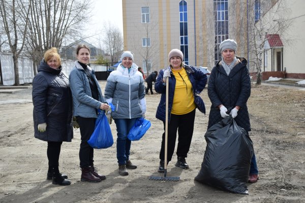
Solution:
M168 124L168 141L167 141L167 161L171 161L176 144L178 130L178 146L177 157L187 157L190 150L195 121L196 109L188 114L175 115L170 114L170 122ZM164 133L162 135L162 144L160 150L160 159L164 160L165 156L165 122Z

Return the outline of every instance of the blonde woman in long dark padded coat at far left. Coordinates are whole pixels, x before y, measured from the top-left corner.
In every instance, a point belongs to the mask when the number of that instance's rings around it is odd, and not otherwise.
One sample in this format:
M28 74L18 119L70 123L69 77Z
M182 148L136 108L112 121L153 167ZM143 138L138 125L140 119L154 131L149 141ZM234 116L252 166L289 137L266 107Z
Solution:
M53 184L70 185L67 175L60 174L58 168L60 147L73 138L72 95L60 63L57 49L47 50L33 79L34 131L35 138L48 142L47 179Z

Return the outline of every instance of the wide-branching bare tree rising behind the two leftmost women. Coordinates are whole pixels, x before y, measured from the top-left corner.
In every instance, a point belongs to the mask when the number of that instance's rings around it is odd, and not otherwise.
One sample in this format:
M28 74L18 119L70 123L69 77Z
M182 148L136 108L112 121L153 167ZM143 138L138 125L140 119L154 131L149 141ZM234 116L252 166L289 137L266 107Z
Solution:
M91 0L29 0L32 7L29 14L27 51L32 55L35 67L44 51L51 47L62 48L67 37L78 36L82 23L90 17Z

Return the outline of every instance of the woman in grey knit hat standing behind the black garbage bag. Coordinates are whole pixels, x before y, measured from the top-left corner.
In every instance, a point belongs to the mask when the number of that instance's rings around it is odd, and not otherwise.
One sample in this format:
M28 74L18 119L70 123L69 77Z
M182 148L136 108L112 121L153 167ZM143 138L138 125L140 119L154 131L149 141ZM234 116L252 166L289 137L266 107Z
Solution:
M251 94L251 81L247 60L235 56L237 44L234 40L225 40L220 44L222 60L212 69L207 93L211 100L211 109L207 128L223 118L232 115L237 125L247 132L251 131L247 101ZM227 114L229 108L231 112ZM251 160L249 182L258 180L255 154Z

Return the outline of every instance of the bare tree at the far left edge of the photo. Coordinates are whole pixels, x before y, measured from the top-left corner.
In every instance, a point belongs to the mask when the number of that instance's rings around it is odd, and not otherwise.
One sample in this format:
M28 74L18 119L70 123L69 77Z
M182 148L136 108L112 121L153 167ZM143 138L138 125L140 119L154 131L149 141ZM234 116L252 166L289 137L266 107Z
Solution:
M13 54L16 86L20 85L18 58L25 44L25 38L29 23L29 8L31 8L31 4L26 4L21 0L1 0L0 13L2 16L3 26L8 39L10 51Z

